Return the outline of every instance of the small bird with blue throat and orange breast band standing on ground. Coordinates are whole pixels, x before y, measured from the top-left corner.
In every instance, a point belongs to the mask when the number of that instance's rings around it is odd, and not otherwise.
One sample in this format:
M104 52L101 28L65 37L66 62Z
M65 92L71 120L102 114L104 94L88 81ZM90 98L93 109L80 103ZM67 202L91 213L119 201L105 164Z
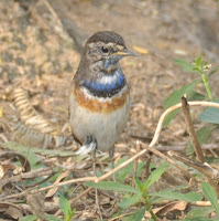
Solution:
M77 154L90 152L96 171L96 150L109 151L113 166L114 143L125 127L130 91L119 65L123 56L134 55L122 36L97 32L87 41L69 96L69 123L74 137L83 145Z

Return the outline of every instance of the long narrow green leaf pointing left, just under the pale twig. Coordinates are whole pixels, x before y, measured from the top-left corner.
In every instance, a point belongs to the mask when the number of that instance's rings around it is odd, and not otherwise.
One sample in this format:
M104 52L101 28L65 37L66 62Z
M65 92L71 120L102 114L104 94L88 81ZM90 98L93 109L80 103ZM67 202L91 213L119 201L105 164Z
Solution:
M99 183L86 182L86 186L101 189L101 190L112 190L112 191L118 191L118 192L134 192L134 193L139 192L138 189L134 189L131 186L122 185L120 182L112 182L112 181L101 181Z

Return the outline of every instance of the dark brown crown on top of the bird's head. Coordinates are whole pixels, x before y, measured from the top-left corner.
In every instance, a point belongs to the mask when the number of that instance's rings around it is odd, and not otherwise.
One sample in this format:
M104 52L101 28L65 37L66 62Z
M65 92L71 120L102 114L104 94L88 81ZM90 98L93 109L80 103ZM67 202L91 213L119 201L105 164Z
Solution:
M124 40L122 39L122 36L112 31L101 31L95 33L88 39L87 44L95 42L103 42L106 44L112 42L124 46Z

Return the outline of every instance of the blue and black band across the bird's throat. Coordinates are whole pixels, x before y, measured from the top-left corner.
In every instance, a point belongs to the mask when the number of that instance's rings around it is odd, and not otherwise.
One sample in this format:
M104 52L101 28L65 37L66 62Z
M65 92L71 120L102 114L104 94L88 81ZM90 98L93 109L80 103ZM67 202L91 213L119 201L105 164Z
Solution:
M117 94L127 83L124 74L121 70L116 70L111 77L113 77L113 75L117 75L117 78L111 83L103 84L98 81L98 78L92 81L85 80L83 86L88 88L95 96L111 97L112 95Z

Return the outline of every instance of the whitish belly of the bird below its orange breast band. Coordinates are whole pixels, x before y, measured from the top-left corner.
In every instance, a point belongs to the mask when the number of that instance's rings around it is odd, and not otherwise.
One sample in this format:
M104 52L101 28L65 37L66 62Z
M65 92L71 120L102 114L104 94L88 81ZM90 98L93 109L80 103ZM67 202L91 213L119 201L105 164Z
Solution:
M100 98L102 99L102 98ZM97 148L108 151L113 147L120 134L127 125L130 110L130 97L127 96L125 104L110 113L94 113L88 108L79 106L76 97L70 96L70 127L73 134L84 143L88 135L92 135L97 140Z

